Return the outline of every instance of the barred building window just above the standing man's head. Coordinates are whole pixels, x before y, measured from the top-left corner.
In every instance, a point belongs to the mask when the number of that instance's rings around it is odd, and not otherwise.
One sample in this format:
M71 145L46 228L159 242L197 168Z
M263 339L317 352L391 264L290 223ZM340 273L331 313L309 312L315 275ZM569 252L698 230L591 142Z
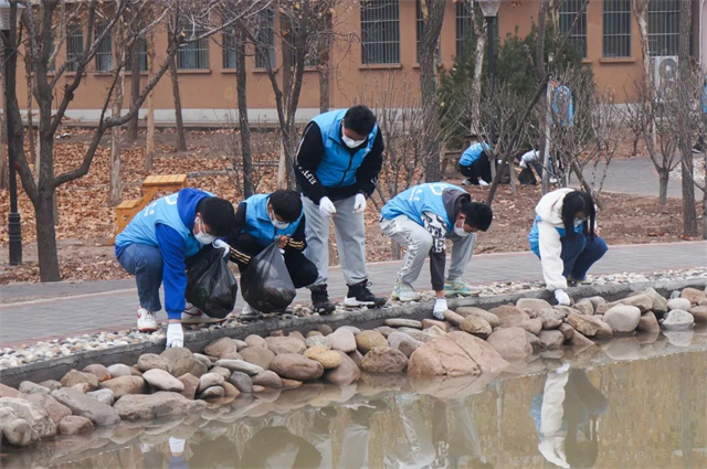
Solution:
M399 0L361 0L361 63L400 63Z

